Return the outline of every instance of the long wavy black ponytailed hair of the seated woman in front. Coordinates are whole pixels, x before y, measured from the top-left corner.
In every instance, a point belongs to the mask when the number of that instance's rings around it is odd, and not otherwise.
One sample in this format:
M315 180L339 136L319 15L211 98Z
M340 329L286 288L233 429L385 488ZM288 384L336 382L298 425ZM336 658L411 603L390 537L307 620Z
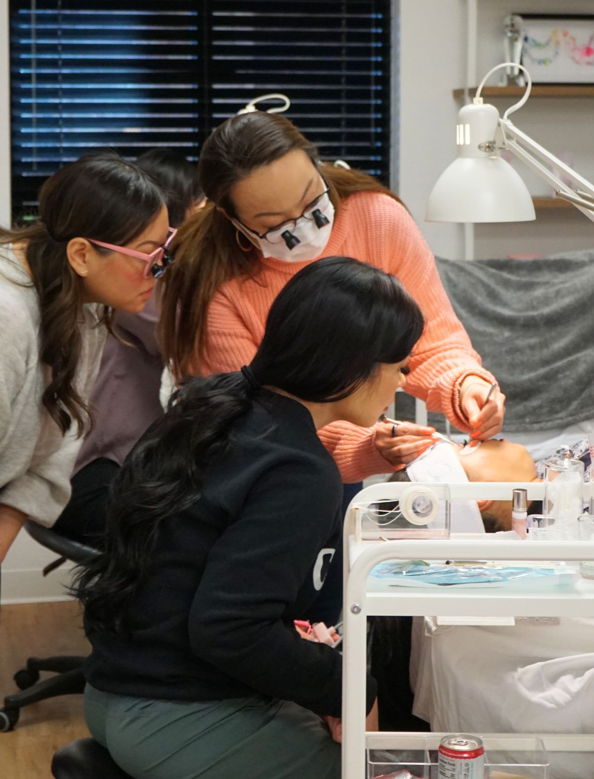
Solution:
M313 403L341 400L381 363L405 360L422 333L419 306L383 270L328 257L297 273L270 308L249 370L190 379L126 459L104 548L73 588L87 629L126 628L164 521L200 499L208 467L225 453L261 386Z

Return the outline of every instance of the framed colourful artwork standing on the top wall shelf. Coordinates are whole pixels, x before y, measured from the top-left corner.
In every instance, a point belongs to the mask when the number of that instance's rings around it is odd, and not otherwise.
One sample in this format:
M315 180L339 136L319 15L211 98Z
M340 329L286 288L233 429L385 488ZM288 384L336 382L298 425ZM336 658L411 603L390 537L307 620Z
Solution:
M594 83L594 15L519 15L522 65L535 83Z

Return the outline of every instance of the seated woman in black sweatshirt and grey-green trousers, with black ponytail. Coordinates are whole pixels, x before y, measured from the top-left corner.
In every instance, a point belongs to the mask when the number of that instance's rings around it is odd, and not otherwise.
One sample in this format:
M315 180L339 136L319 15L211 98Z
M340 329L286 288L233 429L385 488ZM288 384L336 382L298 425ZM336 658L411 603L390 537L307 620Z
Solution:
M372 426L422 330L394 277L311 263L252 364L187 382L129 454L76 591L87 723L132 777L340 776L341 655L293 626L341 537L316 431ZM375 697L369 678L368 713Z

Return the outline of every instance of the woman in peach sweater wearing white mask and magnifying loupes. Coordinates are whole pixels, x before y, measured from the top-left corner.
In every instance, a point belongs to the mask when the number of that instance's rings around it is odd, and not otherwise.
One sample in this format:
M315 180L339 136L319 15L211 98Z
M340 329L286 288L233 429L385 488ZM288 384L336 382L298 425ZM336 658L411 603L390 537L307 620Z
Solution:
M352 256L398 277L423 311L426 330L406 391L475 439L500 431L504 395L496 391L485 403L493 376L456 318L419 228L389 189L321 164L288 119L260 111L215 129L198 171L209 203L179 230L164 280L161 344L176 377L249 365L288 280L316 259ZM352 483L403 467L430 446L433 432L338 422L320 439Z

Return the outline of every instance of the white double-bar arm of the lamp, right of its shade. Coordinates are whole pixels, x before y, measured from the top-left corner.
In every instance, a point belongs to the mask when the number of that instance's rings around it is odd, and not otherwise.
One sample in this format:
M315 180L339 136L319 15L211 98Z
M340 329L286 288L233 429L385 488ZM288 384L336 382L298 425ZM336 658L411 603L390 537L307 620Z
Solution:
M557 191L557 197L573 203L586 217L594 221L594 185L587 178L578 174L572 167L555 157L554 154L540 146L539 143L536 143L535 140L506 119L500 120L497 135L500 136L496 138L498 148L510 150L540 178L553 186ZM550 171L547 165L563 171L567 178L570 178L571 182L576 185L576 191L562 182L553 171Z

